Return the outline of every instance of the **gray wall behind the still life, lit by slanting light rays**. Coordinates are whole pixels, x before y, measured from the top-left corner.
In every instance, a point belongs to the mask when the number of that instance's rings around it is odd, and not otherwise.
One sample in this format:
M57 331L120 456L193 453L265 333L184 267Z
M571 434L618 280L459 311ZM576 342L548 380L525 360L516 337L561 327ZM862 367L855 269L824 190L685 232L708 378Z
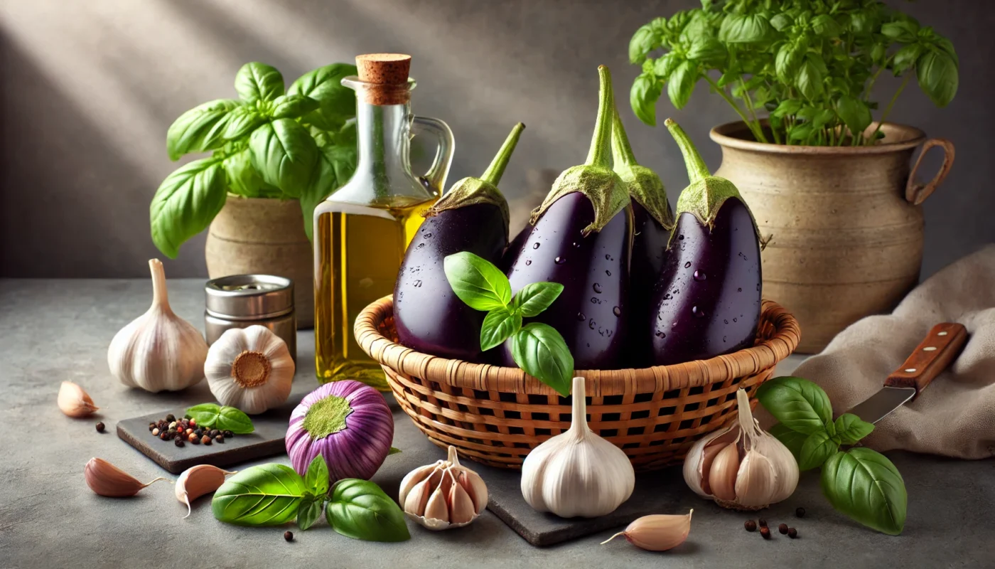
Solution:
M995 241L995 3L889 0L953 41L960 89L946 109L906 91L893 119L952 140L956 163L925 203L923 275ZM662 127L628 107L638 69L632 33L697 0L5 0L0 3L0 276L147 276L162 257L148 234L148 203L177 163L165 133L181 113L234 97L248 61L299 74L356 54L413 56L413 108L444 119L457 141L450 181L478 174L517 121L527 129L501 183L519 210L537 172L580 163L597 106L599 64L610 66L637 156L657 169L672 201L687 184ZM894 81L879 82L887 100ZM735 120L698 85L674 117L715 168L708 130ZM932 160L937 163L938 160ZM530 172L530 173L529 173ZM535 197L533 196L532 199ZM203 235L167 262L171 277L204 276Z

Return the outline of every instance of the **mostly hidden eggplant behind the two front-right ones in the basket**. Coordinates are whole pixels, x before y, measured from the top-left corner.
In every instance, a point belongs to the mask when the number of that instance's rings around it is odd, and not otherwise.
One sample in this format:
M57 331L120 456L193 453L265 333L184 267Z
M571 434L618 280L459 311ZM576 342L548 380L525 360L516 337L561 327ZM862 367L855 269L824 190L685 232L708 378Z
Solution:
M615 112L612 128L612 157L615 172L629 188L632 198L634 233L632 263L629 272L629 306L633 318L629 320L630 364L636 367L650 365L651 336L645 333L645 316L651 312L653 286L664 268L667 242L674 229L674 210L667 200L667 190L660 176L636 161L636 155L625 134L622 119Z

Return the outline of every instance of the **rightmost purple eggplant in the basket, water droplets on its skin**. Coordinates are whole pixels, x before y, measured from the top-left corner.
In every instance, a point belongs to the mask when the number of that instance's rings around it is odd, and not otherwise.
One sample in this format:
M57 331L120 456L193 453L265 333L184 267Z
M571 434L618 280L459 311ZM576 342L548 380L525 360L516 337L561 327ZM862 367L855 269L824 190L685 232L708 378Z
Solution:
M760 320L760 239L739 190L708 172L677 123L667 128L688 165L678 222L654 288L657 365L713 358L753 345Z

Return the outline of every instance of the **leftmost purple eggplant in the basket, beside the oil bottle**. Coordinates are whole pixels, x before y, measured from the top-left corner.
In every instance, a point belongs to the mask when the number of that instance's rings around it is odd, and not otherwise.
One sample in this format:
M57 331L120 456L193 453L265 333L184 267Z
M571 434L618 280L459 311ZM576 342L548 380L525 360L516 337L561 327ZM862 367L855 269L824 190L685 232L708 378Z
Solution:
M492 263L500 261L507 245L508 210L497 182L524 128L515 125L483 176L456 182L425 212L394 285L394 325L404 346L444 358L481 361L486 313L456 296L443 272L443 259L470 251Z

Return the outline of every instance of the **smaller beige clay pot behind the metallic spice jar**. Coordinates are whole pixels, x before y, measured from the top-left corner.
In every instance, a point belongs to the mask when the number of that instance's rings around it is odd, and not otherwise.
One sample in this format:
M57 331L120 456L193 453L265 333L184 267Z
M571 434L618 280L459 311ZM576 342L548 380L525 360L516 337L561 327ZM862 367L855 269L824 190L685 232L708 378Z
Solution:
M314 258L296 199L228 194L204 246L207 273L267 274L294 281L298 329L314 325Z

